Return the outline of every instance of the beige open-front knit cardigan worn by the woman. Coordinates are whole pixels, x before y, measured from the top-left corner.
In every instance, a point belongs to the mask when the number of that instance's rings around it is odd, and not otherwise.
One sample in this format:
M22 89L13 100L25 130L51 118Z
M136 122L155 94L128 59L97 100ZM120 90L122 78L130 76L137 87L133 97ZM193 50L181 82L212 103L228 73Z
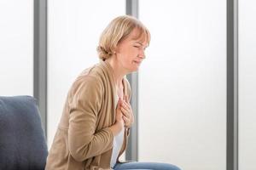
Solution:
M124 94L131 99L131 88L123 79ZM49 150L47 170L110 169L115 122L116 90L113 69L106 61L84 70L73 82ZM129 129L119 156L125 151ZM118 156L118 160L119 160Z

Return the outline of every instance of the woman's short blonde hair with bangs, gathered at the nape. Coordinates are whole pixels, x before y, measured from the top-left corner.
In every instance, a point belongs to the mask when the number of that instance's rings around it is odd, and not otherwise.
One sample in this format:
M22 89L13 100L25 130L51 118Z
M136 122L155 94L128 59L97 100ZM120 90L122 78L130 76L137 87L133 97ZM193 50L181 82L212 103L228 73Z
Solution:
M135 28L139 31L137 38L146 37L149 45L150 33L146 26L135 17L122 15L113 19L102 32L99 45L96 48L99 58L105 60L111 57L119 42L128 37Z

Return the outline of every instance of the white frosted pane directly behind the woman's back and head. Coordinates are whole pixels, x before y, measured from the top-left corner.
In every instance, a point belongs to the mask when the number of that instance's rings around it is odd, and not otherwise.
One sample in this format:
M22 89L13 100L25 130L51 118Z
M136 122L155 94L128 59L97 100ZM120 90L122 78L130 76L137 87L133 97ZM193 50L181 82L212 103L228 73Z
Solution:
M125 0L48 2L48 146L50 148L68 89L79 73L98 62L103 29L125 14Z

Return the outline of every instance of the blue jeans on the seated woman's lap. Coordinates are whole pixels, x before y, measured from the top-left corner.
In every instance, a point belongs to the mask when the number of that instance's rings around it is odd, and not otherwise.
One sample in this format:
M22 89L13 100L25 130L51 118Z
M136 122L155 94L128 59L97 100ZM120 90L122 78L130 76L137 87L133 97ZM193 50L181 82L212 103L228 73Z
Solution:
M179 167L168 163L158 163L158 162L125 162L117 163L114 167L114 170L181 170Z

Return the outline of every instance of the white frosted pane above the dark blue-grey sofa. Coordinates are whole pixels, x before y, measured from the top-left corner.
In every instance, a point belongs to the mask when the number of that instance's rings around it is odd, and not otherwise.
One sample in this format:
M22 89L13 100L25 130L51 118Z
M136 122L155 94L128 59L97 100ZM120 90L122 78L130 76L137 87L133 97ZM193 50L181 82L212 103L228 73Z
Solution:
M33 95L33 1L0 1L0 95Z

